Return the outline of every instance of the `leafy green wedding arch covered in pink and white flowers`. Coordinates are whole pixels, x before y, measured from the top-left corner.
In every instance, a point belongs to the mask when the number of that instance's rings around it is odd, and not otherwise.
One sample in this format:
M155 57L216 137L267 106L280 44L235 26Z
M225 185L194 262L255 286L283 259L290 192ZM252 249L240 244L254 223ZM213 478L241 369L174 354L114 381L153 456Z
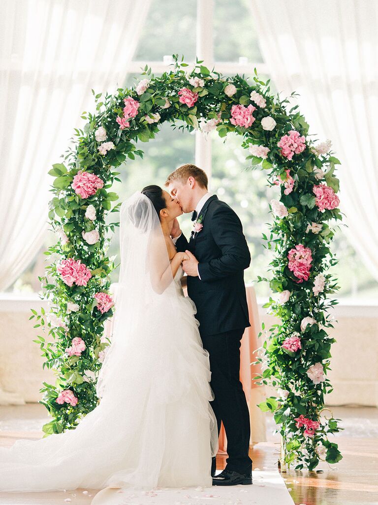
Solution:
M44 382L40 389L40 403L53 417L43 426L44 436L75 428L98 404L96 381L110 344L102 337L103 324L113 315L109 274L116 268L106 256L105 235L119 225L105 224L106 213L120 206L112 207L118 196L109 189L120 180L113 170L127 158L143 157L138 140L147 142L163 122L179 120L179 128L188 131L217 130L221 137L236 132L251 168L261 166L268 185L277 185L279 195L270 202L271 234L263 235L275 253L272 275L258 281L269 282L276 293L265 307L280 324L266 334L257 360L263 365L258 379L278 393L259 407L274 415L283 463L309 470L320 460L336 463L342 456L329 436L340 430L339 420L321 414L324 395L332 390L327 372L335 340L326 331L333 327L327 309L337 301L327 296L339 286L326 270L337 263L330 242L331 221L342 220L334 175L340 162L331 156L329 140L315 145L306 136L308 124L298 106L287 112L289 100L271 95L269 80L259 80L256 69L249 84L244 76L224 77L198 60L186 73L183 58L173 57L173 70L161 77L146 66L136 87L105 96L92 90L96 113L83 112L87 123L84 130L75 129L74 148L49 171L54 177L49 224L59 239L45 254L60 261L39 277L42 296L52 299L49 313L32 310L30 318L52 336L35 342L46 358L43 368L57 376L54 385Z

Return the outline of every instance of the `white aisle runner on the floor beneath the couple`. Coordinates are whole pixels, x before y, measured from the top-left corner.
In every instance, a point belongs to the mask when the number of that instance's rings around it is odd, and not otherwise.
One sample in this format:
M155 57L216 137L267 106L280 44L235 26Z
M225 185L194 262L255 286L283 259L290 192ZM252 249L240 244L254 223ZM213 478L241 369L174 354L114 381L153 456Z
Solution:
M106 487L91 505L293 505L278 471L253 471L253 485L157 488L151 491Z

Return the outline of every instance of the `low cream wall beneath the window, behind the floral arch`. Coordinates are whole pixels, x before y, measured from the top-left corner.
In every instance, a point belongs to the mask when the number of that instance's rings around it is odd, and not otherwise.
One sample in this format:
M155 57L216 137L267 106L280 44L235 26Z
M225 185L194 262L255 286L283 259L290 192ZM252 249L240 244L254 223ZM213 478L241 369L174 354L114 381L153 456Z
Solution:
M260 301L260 300L258 300ZM259 304L260 319L267 328L274 317ZM33 328L35 319L29 321L30 309L47 310L47 301L37 295L20 299L20 295L3 293L0 296L0 388L16 393L17 402L36 402L42 382L55 381L51 370L42 370L43 358L39 345L32 340L41 333ZM378 308L373 305L343 304L335 307L338 320L330 335L337 342L331 348L332 372L329 376L334 391L327 398L327 405L356 403L378 407ZM263 342L261 341L261 344ZM260 344L260 345L261 345ZM0 404L5 393L0 392Z

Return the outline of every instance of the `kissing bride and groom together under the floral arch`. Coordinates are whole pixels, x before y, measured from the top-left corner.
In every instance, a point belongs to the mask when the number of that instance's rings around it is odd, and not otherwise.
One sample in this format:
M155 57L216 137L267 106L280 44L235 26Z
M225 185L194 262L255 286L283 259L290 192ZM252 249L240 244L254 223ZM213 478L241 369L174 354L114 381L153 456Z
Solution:
M0 448L0 491L252 484L239 380L240 340L250 326L242 225L195 165L177 168L165 187L147 186L120 207L120 273L99 404L75 429ZM177 217L190 212L187 239ZM221 422L228 458L216 474Z

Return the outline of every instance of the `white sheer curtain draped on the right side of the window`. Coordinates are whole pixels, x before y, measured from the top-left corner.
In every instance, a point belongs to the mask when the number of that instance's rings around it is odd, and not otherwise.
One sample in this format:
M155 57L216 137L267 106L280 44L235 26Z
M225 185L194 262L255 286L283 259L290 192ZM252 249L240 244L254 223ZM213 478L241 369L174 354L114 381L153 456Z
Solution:
M280 96L300 94L309 133L332 140L342 165L343 228L378 280L378 2L250 0ZM281 94L282 91L282 94ZM315 137L312 137L315 138Z

